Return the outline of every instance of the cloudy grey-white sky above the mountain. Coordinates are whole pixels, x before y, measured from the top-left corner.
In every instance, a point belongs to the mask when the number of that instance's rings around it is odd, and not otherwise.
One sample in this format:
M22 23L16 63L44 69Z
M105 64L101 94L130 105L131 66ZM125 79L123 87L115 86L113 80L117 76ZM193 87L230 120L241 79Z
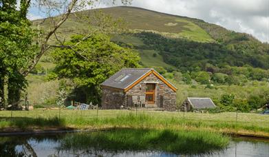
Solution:
M120 0L115 4L107 1L97 3L96 8L122 6ZM269 42L269 0L133 0L129 6L202 19ZM42 17L35 6L28 13L29 19Z

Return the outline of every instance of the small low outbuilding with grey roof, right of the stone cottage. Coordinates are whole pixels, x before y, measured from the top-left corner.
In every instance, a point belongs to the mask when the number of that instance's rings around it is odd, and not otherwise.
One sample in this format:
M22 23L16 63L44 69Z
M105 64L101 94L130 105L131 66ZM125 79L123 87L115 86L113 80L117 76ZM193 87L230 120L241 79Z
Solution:
M205 109L213 109L216 105L213 103L211 98L187 98L182 103L182 111L202 111Z

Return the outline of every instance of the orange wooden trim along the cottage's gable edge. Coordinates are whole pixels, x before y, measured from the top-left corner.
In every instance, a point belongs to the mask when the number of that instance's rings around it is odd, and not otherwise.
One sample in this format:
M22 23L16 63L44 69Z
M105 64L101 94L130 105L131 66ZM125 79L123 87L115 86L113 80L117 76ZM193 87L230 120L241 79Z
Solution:
M168 87L170 87L173 92L177 92L177 89L175 87L173 87L173 85L171 85L171 83L169 83L168 81L166 81L162 76L160 76L160 74L158 74L157 72L155 72L155 70L151 70L150 72L147 72L147 74L144 74L144 76L142 76L140 79L138 79L136 82L134 82L133 84L131 84L129 87L127 87L125 89L125 92L127 92L128 90L131 90L131 88L135 85L137 85L138 83L140 83L143 79L145 79L147 76L149 76L150 74L154 74L155 76L158 77L158 79L160 79L162 82L164 82Z

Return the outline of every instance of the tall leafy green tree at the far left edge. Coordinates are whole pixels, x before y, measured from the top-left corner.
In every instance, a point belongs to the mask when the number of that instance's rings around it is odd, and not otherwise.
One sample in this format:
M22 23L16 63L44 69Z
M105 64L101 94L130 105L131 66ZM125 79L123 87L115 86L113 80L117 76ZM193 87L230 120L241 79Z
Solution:
M17 10L17 3L0 1L0 107L5 105L5 84L8 84L8 103L17 105L20 92L27 85L21 72L27 69L28 61L34 59L37 48L35 30L30 28L25 15L30 4L21 0L20 10Z

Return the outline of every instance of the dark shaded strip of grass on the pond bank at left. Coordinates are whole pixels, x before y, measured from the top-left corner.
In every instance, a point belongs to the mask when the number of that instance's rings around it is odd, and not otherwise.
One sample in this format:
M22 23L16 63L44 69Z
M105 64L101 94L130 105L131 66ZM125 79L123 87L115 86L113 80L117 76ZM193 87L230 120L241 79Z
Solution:
M31 127L64 127L65 120L58 117L53 118L27 118L27 117L1 117L1 123L6 123L3 127L14 127L19 129L30 129Z

